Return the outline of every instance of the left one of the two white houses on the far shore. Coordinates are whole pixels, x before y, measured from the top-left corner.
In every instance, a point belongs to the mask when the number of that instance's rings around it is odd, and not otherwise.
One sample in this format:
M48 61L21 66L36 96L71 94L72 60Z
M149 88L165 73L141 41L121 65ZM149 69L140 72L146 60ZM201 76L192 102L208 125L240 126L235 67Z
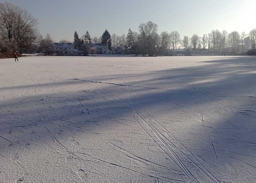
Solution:
M83 55L72 43L54 43L53 55Z

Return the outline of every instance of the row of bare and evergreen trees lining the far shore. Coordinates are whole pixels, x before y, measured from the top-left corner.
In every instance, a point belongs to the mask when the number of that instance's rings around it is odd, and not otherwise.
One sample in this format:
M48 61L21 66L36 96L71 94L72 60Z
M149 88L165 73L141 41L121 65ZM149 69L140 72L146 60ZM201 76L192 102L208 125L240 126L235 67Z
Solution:
M50 34L45 38L37 30L37 20L26 10L12 3L0 3L0 54L10 55L12 52L31 53L44 51L52 54L54 42ZM61 40L60 42L68 42ZM110 35L105 32L100 37L91 38L88 31L79 38L74 33L74 48L87 53L90 43L104 44L114 54L142 54L149 56L175 55L183 53L190 55L193 52L208 52L217 54L241 55L256 54L256 28L249 33L212 30L201 37L193 34L192 37L180 37L180 33L157 33L157 25L151 21L141 23L138 32L128 30L125 35Z

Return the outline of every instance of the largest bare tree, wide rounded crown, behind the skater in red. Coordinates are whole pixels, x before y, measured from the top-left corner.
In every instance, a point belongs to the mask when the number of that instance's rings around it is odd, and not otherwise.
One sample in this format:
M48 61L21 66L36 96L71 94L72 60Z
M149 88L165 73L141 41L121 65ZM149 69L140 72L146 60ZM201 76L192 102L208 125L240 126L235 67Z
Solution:
M40 36L36 26L37 19L33 18L26 10L12 3L0 3L0 32L2 39L9 43L15 40L20 54L35 45L35 41Z

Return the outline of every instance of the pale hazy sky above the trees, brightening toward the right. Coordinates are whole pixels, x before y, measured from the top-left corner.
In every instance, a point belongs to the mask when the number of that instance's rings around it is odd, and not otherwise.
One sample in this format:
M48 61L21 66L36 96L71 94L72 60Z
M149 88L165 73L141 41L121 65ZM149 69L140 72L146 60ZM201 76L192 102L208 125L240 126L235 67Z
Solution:
M0 0L0 2L4 2ZM249 33L256 27L256 0L9 0L38 19L38 29L54 41L73 41L86 30L100 36L138 32L140 23L149 20L162 31L178 31L183 37L202 36L212 29Z

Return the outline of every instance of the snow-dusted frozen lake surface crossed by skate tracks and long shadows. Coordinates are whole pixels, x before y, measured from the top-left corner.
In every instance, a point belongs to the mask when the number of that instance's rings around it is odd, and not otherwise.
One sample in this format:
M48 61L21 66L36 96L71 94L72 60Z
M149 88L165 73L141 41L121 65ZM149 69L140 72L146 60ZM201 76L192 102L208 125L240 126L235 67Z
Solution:
M256 182L256 57L0 60L2 183Z

